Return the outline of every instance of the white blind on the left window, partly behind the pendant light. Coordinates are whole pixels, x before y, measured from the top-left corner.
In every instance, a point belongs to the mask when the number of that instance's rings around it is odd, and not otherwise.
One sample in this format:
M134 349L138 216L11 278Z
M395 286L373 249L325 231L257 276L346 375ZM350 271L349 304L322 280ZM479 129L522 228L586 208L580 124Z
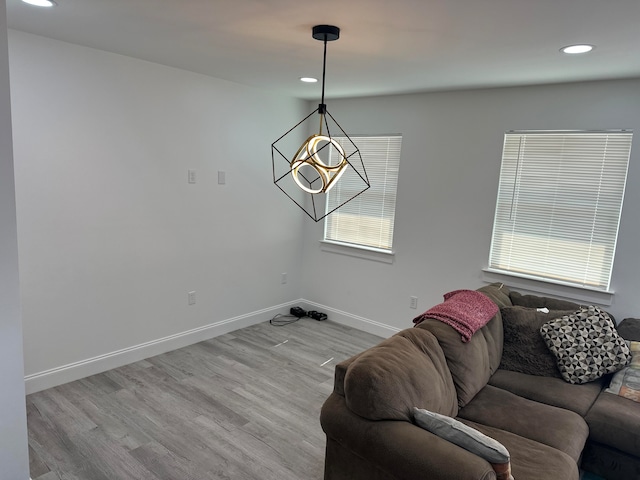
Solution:
M400 166L401 135L352 137L358 146L371 187L325 217L325 240L391 251L396 212L396 190ZM353 145L345 138L336 140L347 157ZM352 177L355 180L355 177ZM335 208L362 184L350 182L346 175L327 195L327 210Z

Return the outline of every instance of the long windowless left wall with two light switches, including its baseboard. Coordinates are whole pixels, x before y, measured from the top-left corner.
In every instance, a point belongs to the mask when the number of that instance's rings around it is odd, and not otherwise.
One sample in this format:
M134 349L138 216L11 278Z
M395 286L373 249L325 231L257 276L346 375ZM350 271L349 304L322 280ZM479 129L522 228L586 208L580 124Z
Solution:
M304 214L273 185L270 147L305 102L9 34L28 391L300 297Z

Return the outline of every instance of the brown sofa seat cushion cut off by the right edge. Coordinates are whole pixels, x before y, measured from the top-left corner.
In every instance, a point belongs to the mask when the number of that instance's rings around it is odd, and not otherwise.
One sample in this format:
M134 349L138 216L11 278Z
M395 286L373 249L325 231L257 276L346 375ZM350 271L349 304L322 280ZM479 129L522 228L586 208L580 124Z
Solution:
M591 439L640 457L640 403L602 392L585 419Z

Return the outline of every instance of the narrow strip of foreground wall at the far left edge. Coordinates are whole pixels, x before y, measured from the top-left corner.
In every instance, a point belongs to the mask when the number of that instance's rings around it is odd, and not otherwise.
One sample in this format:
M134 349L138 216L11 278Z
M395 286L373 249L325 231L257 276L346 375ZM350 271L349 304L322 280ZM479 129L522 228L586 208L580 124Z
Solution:
M6 4L0 0L0 477L29 478Z

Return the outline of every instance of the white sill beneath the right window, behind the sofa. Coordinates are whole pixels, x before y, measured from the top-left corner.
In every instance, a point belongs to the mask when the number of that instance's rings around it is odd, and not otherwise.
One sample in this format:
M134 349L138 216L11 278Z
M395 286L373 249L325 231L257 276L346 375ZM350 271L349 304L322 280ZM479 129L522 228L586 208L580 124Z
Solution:
M587 302L604 306L611 305L615 294L613 291L595 290L588 287L567 285L550 280L538 280L525 275L492 270L490 268L482 269L482 279L489 283L504 282L514 289L562 297L573 300L576 303Z

